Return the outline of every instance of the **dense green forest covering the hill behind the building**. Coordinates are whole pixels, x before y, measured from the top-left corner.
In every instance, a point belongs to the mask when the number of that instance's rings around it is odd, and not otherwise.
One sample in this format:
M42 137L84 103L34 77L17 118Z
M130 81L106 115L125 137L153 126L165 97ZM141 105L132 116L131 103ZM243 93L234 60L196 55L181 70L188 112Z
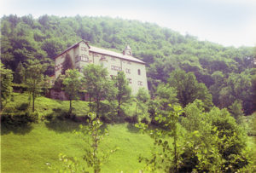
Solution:
M193 72L198 83L205 84L215 106L230 107L240 101L245 114L255 111L255 49L199 41L194 36L137 20L79 15L43 15L38 19L31 14L3 16L1 61L14 72L15 83L20 83L20 64L29 59L48 64L45 74L52 75L55 55L81 39L118 52L129 44L133 55L147 64L148 88L153 98L159 84L167 83L170 73L178 68Z

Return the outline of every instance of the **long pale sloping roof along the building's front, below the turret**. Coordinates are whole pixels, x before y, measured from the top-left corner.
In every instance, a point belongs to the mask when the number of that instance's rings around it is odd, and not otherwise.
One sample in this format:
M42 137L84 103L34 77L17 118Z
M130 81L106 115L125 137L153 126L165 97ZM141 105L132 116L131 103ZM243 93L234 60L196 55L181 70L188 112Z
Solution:
M90 46L89 50L91 52L96 52L96 53L103 54L103 55L111 55L111 56L114 56L114 57L117 57L117 58L120 58L120 59L123 59L123 60L135 61L135 62L145 64L145 62L143 62L143 61L141 61L141 60L139 60L139 59L137 59L137 58L135 58L131 55L123 55L123 54L120 54L120 53L117 53L117 52L113 52L111 50L96 48L94 46Z

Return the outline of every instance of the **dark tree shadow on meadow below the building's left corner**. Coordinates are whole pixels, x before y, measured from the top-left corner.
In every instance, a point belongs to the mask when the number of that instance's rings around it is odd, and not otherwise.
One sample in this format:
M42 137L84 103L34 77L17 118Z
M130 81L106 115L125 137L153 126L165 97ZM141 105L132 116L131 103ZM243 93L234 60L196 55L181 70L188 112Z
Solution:
M79 130L79 125L81 123L73 122L69 119L58 119L53 118L47 122L45 122L46 127L49 130L55 130L58 133L72 132L73 130Z

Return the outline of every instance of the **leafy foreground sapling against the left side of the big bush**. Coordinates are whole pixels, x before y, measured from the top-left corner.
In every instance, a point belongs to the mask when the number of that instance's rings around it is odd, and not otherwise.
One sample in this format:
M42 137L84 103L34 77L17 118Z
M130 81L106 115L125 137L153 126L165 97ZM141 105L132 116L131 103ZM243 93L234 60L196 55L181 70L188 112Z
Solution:
M178 118L183 113L183 109L180 106L171 106L172 111L165 117L162 115L156 116L154 119L159 123L164 123L167 130L155 129L148 130L148 125L140 123L136 124L138 128L143 132L148 132L154 139L154 146L160 146L160 150L156 150L152 153L152 158L147 159L144 157L139 158L139 162L145 161L147 164L146 170L164 170L165 172L178 172L181 161L182 147L178 138L183 135L181 132L181 126L178 124ZM170 138L173 141L170 142Z

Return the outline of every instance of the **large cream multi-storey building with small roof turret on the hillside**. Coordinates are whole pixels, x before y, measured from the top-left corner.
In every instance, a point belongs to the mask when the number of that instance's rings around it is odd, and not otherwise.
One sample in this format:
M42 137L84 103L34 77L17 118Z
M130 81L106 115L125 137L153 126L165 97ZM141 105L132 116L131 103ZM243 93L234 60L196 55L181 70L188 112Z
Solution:
M60 55L55 56L55 78L61 74L63 62L69 54L75 68L82 72L84 66L96 64L108 69L110 77L116 76L119 71L124 71L130 82L132 94L137 94L138 89L148 89L145 62L132 56L131 48L127 46L122 54L107 49L100 49L90 46L82 40L79 43L64 50Z

